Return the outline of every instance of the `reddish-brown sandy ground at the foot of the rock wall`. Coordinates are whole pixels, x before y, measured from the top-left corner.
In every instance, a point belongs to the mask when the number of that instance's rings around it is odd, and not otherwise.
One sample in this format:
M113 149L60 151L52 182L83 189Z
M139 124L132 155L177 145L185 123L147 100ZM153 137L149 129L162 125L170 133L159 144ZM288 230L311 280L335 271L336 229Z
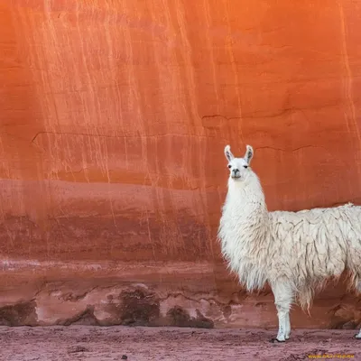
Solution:
M292 361L317 354L361 360L353 330L298 330L283 344L270 343L274 331L260 329L4 327L0 334L1 361Z

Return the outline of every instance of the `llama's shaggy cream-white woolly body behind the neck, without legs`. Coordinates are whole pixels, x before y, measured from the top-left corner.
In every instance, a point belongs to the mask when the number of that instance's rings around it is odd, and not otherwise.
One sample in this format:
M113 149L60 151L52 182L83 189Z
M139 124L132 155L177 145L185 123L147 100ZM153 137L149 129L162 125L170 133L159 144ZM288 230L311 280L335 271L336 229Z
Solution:
M361 274L361 207L313 208L269 213L273 256L270 269L284 271L301 292L338 277L345 269L356 287ZM281 271L281 272L282 272ZM270 277L276 274L270 274Z

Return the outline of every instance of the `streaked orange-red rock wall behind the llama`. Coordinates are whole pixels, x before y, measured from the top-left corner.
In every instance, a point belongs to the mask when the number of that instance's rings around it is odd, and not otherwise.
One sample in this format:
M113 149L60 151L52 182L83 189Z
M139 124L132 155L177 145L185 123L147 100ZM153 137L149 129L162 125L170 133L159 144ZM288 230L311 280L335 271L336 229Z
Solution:
M361 203L361 5L266 3L0 0L1 324L275 327L219 254L223 148L270 210Z

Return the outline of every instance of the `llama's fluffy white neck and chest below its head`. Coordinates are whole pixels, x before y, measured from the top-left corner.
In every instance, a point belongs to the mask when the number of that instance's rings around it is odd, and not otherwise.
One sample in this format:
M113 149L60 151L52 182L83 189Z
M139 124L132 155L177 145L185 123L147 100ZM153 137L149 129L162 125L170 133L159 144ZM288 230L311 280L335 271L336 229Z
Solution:
M255 173L243 181L230 179L218 236L228 266L248 290L260 289L266 281L261 265L267 261L268 222L264 192Z

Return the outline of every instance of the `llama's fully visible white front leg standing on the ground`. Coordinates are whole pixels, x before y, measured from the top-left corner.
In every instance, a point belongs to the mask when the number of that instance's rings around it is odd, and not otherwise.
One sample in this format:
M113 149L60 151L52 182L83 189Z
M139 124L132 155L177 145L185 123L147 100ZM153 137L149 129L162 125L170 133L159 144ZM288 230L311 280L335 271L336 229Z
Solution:
M290 338L291 333L290 309L293 301L292 287L287 282L274 282L272 291L278 316L278 334L271 342L284 342Z

